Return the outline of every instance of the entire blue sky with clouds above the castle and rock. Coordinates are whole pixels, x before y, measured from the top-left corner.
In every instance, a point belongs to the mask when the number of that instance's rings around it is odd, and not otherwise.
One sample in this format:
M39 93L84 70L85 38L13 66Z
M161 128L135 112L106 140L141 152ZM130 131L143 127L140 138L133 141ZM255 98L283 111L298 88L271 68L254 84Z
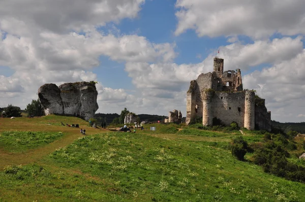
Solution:
M190 81L241 69L271 119L305 121L304 0L2 0L0 107L98 81L101 113L186 115Z

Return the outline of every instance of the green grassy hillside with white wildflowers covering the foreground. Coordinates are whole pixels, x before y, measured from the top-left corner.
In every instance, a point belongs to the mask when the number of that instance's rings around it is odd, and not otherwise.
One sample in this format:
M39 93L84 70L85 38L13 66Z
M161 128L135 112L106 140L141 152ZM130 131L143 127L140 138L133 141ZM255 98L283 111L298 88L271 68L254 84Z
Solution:
M0 201L305 201L305 184L231 155L227 145L239 131L156 124L144 127L154 132L112 132L54 115L0 121ZM87 135L61 122L78 123ZM38 140L62 135L41 144L19 137L27 141L17 151L15 136L1 139L11 130ZM244 132L251 144L263 138Z

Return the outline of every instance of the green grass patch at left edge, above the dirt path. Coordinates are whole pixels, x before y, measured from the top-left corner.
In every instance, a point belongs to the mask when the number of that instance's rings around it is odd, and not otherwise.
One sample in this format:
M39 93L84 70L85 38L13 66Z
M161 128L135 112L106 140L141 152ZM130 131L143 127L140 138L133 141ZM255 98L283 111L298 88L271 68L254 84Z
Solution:
M24 152L49 144L63 135L62 132L2 131L0 148L10 152Z

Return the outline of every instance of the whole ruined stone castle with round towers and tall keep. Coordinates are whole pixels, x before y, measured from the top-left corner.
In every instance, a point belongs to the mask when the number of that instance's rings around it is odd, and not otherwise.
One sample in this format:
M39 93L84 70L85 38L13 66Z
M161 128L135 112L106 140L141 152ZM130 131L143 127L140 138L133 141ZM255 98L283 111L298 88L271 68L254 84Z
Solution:
M217 57L214 72L199 75L187 92L186 123L196 117L202 117L205 126L213 125L213 119L218 118L225 125L235 121L249 130L271 130L265 99L253 90L243 90L240 70L224 72L224 59Z

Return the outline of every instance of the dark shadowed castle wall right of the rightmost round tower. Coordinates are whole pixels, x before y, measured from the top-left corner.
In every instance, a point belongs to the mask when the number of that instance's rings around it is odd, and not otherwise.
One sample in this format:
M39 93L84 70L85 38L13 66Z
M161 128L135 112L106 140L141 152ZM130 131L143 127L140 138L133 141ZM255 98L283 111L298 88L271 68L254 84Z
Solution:
M255 129L271 131L271 112L265 107L265 99L255 99Z

